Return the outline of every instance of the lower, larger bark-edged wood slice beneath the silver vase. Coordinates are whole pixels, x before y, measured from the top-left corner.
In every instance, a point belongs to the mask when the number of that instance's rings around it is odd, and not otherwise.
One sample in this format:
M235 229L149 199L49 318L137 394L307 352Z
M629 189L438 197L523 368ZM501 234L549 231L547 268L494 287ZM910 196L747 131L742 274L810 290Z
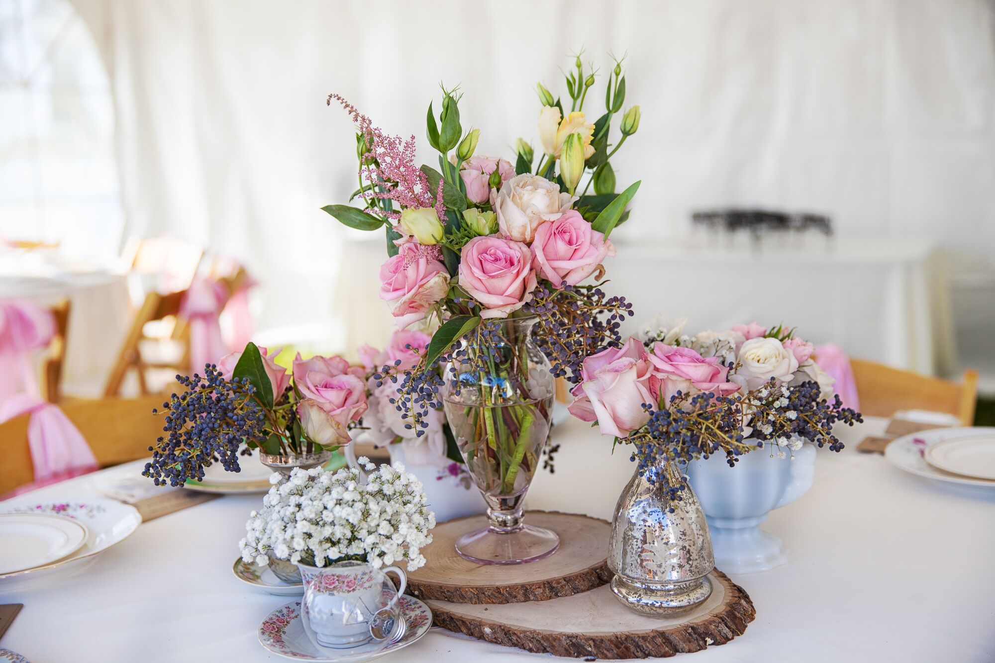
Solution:
M542 602L426 603L437 626L526 651L603 659L674 656L724 644L742 635L756 615L749 595L725 573L713 570L708 577L711 595L671 618L633 612L608 585Z

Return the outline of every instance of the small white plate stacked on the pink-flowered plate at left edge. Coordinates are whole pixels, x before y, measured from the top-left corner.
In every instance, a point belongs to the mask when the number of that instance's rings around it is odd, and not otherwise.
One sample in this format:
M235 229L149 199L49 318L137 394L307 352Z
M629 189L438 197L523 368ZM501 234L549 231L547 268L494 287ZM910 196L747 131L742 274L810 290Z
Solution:
M0 575L44 566L78 551L87 528L63 516L0 514Z

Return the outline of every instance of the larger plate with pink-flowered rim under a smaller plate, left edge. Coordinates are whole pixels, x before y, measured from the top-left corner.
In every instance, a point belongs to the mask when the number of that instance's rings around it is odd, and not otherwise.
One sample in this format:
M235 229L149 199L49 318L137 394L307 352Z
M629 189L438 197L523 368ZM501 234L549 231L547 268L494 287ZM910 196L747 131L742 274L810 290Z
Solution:
M20 591L53 579L59 574L81 570L93 556L130 537L141 524L138 510L107 498L87 502L39 501L27 494L0 504L3 513L52 514L71 518L87 528L87 540L76 552L48 564L0 575L0 593Z

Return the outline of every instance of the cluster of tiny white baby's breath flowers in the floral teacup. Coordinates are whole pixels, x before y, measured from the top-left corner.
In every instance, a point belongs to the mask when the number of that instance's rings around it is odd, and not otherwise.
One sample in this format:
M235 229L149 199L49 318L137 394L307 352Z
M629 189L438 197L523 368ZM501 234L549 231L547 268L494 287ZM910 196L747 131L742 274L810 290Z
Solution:
M315 566L344 559L374 568L402 559L408 570L425 565L421 550L432 543L435 514L422 482L400 463L376 469L360 458L359 464L369 472L366 483L356 469L295 468L287 483L270 489L263 509L252 512L239 542L242 558L262 565L272 552Z

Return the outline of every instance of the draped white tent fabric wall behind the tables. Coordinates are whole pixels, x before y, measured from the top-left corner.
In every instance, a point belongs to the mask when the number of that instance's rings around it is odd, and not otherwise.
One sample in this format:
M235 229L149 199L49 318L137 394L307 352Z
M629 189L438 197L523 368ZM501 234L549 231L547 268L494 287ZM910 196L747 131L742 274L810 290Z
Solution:
M626 106L642 107L613 160L620 185L644 183L622 234L674 237L692 209L762 205L991 265L984 0L72 1L110 71L127 232L242 258L266 325L386 318L335 283L359 233L318 209L355 188L351 126L328 93L421 140L438 83L460 84L478 153L507 155L518 135L537 142L534 83L561 91L557 68L581 46L603 71L608 51L628 52Z

